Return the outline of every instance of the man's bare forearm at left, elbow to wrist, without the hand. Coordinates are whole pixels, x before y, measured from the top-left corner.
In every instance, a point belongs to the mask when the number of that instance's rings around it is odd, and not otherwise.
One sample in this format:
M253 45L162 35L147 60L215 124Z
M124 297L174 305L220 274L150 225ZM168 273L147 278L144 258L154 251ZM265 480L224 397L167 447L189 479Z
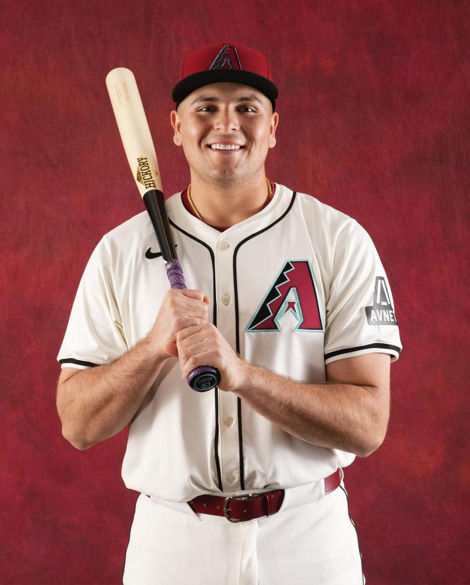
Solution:
M147 338L118 360L80 371L57 388L62 432L77 449L105 441L131 422L166 360Z

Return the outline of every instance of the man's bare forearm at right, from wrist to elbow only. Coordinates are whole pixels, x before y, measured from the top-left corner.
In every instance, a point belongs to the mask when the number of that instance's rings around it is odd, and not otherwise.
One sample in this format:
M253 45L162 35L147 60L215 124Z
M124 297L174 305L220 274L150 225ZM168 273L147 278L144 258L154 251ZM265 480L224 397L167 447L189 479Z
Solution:
M376 388L306 384L245 362L242 388L234 393L263 417L302 441L366 456L383 441ZM385 425L386 430L386 425Z

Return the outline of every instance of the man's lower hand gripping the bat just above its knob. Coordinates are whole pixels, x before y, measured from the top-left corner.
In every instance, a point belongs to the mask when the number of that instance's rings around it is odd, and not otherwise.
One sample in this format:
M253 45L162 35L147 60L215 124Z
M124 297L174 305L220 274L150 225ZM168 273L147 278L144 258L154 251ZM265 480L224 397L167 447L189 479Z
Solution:
M176 334L176 346L183 378L198 366L212 366L220 372L220 390L234 392L242 387L249 364L211 323L182 329Z

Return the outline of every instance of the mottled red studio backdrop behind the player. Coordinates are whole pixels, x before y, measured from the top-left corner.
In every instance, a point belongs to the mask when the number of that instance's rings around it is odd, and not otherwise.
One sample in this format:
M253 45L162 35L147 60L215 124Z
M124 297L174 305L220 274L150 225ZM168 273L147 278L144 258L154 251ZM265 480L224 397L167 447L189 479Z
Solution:
M55 408L56 356L88 257L143 211L104 80L134 71L170 195L189 177L169 121L181 60L228 39L265 52L279 86L267 176L356 218L392 287L404 349L389 432L345 470L368 584L470 583L469 3L0 9L0 582L121 582L138 495L121 480L126 432L80 452Z

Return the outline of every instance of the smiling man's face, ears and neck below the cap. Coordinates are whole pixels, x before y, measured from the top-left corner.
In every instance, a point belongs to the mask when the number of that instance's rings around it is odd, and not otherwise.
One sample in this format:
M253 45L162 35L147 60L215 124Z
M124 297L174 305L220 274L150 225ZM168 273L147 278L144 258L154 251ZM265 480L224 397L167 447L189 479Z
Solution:
M206 223L232 226L264 207L278 119L262 92L232 82L205 85L171 112L174 142L191 169L190 201Z

